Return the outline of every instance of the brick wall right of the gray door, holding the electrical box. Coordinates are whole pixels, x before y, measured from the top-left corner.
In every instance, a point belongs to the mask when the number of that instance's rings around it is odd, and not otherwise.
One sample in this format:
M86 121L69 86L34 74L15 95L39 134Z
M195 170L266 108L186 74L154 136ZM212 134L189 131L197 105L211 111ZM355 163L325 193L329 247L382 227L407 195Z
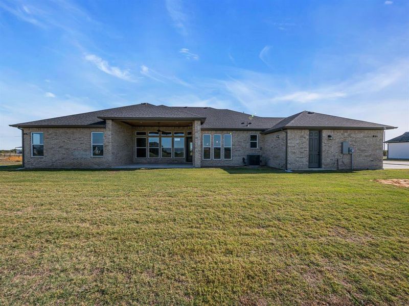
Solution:
M332 140L328 139L332 136ZM376 137L373 137L376 136ZM341 142L354 148L354 169L383 168L383 130L323 130L322 165L326 169L351 169L351 155L341 154Z

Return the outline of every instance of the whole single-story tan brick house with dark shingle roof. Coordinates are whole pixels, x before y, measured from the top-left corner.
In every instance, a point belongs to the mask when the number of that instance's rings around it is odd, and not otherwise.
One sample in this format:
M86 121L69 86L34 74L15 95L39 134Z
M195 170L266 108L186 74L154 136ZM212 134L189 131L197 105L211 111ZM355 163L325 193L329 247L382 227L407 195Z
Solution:
M11 126L22 130L27 168L246 163L290 170L381 169L383 131L395 128L307 111L269 118L146 103Z

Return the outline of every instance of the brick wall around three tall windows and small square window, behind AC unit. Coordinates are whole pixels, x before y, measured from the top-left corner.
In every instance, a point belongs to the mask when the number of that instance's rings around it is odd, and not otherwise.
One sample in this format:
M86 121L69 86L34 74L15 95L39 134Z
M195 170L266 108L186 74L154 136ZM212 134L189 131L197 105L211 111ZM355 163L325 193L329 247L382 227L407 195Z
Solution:
M204 134L212 135L212 150L210 160L201 160L201 165L205 167L211 166L243 166L243 157L247 158L247 154L260 154L262 164L265 164L263 156L263 145L264 145L264 135L261 135L259 131L201 131L203 137ZM221 160L213 159L213 135L221 134L222 150L221 150ZM224 160L223 154L223 134L232 134L232 159ZM258 135L258 148L250 148L250 135ZM203 147L201 147L201 150ZM202 152L202 151L201 151Z

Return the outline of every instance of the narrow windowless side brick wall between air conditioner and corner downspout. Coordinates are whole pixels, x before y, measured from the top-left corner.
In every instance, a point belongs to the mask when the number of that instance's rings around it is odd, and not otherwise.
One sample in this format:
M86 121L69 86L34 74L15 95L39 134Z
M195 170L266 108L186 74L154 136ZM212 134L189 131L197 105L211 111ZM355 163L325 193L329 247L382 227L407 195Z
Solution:
M266 160L266 165L269 167L285 169L285 132L279 131L263 136L264 159Z

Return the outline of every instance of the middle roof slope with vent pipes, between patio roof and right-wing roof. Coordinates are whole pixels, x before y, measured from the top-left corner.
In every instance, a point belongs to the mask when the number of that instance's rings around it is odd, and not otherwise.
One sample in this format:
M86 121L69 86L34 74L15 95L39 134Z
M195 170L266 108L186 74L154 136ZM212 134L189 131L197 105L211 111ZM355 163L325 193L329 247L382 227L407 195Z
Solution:
M258 117L228 109L212 107L173 107L206 117L201 130L247 130L262 131L281 121L283 118ZM242 124L243 123L243 124ZM249 124L251 123L251 124ZM248 126L246 126L248 124Z

